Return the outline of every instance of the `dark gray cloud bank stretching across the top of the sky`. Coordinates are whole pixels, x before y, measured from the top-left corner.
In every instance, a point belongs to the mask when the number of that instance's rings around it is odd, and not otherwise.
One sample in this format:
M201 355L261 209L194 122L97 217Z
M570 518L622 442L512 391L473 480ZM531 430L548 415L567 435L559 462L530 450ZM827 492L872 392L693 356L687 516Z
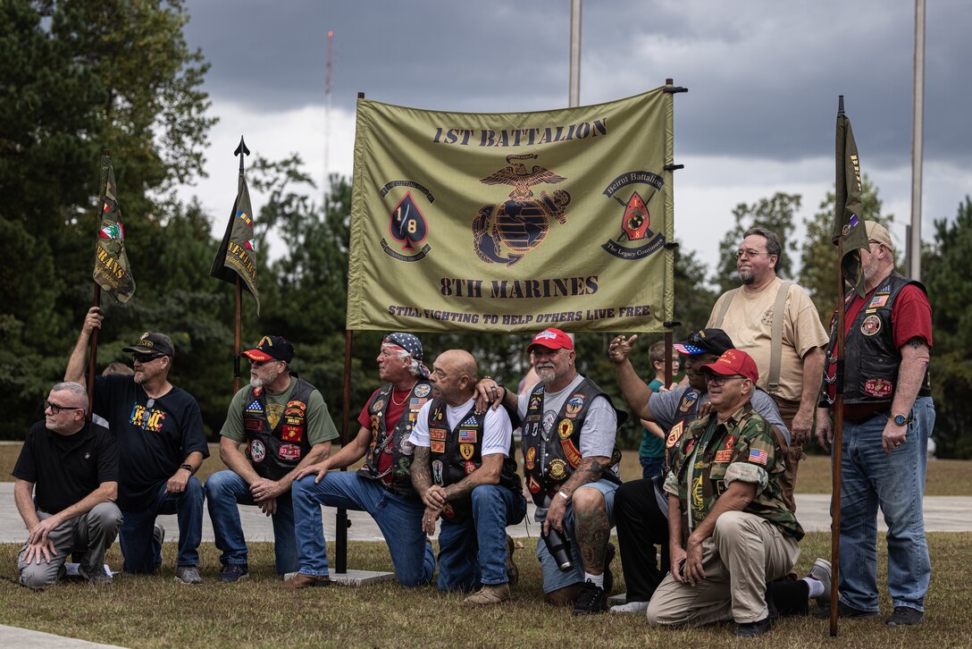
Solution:
M213 64L207 90L271 113L325 101L334 30L332 105L356 93L460 111L566 104L569 3L190 0L187 38ZM926 159L972 162L968 112L972 14L928 3ZM837 96L865 168L911 152L914 6L910 2L588 1L581 100L661 85L677 97L677 153L790 162L831 156Z

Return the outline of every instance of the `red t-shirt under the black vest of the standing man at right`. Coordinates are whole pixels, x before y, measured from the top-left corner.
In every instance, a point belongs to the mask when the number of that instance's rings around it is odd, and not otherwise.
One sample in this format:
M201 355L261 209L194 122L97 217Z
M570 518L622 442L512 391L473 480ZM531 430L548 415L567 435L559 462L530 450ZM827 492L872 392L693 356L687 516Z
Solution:
M884 282L878 284L863 298L855 297L851 301L847 315L844 317L845 336L851 331L851 325L860 313L860 309L870 303L874 292L883 285ZM931 347L931 304L928 302L928 296L918 286L914 284L905 286L894 299L894 305L891 307L891 331L894 336L894 346L898 349L913 338L919 338L929 348ZM836 372L836 365L828 365L829 379L833 379ZM837 391L836 383L828 383L827 390L830 398L833 399ZM884 406L880 404L847 404L844 406L844 415L861 418L883 409Z

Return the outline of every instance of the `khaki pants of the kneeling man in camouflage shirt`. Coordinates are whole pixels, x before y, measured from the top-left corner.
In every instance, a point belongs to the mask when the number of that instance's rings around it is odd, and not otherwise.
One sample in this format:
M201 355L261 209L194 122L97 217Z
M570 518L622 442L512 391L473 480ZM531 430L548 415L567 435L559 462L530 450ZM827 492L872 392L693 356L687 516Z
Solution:
M759 622L769 615L766 583L800 559L800 544L775 524L745 512L726 512L702 544L706 578L680 584L669 573L648 603L648 624L699 626L735 620Z

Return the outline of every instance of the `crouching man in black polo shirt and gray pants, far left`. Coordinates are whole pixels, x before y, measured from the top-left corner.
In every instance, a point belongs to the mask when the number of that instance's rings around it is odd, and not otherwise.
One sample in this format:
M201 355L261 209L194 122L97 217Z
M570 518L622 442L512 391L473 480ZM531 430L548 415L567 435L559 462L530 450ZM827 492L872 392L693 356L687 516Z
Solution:
M102 566L121 525L118 454L111 434L87 422L86 410L83 386L55 384L45 419L30 427L14 467L14 499L30 532L17 571L29 588L56 583L71 553L84 555L80 571L92 584L112 583Z

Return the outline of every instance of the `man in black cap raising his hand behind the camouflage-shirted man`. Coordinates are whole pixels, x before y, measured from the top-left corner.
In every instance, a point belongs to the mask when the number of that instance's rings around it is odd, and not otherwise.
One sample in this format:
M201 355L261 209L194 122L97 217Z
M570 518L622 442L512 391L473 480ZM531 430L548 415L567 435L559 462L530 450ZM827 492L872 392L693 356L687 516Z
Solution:
M709 401L706 377L700 370L732 349L733 343L721 329L692 332L687 340L674 345L684 357L688 385L679 385L667 392L652 392L629 359L632 345L637 340L638 336L618 336L608 345L608 356L614 363L618 385L628 407L635 415L661 426L667 436L666 451L671 451L683 428L699 416L699 408ZM788 433L780 411L768 394L756 390L752 395L752 407L786 439ZM644 611L669 571L668 496L662 489L663 481L664 474L662 480L635 480L617 489L614 521L628 594L626 603L611 607L612 613ZM661 548L660 564L656 559L656 545Z

